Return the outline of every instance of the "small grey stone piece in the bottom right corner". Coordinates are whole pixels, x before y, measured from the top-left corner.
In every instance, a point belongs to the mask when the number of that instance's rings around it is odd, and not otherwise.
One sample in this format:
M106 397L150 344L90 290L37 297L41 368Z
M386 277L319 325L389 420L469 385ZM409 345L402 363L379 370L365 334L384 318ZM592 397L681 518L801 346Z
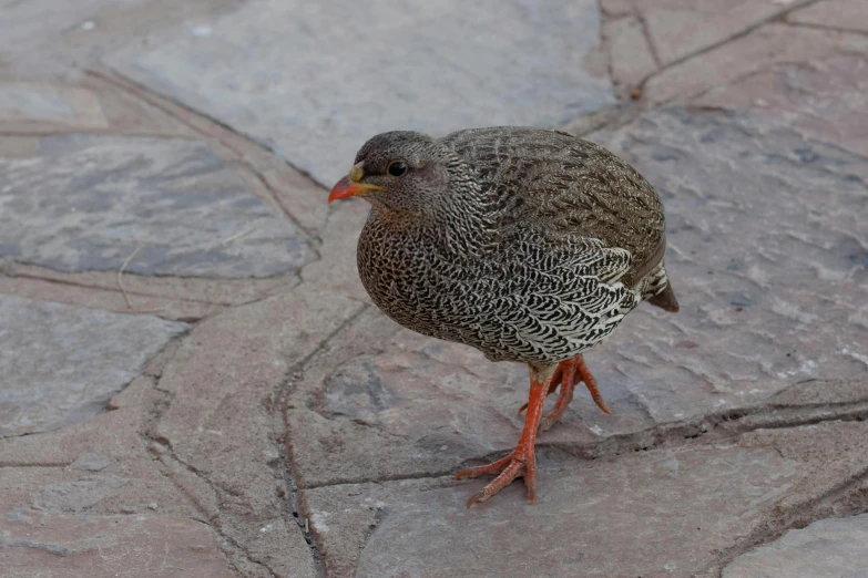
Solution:
M868 514L821 519L743 554L723 578L862 578L868 572Z

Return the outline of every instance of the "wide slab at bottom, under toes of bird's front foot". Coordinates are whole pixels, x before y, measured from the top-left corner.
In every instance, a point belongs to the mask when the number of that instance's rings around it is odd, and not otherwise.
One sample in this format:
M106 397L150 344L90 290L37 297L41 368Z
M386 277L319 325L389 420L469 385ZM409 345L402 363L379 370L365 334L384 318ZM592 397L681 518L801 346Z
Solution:
M733 446L590 462L543 452L538 465L533 506L515 483L467 509L481 479L337 485L302 497L334 577L687 577L760 526L803 476L769 448Z

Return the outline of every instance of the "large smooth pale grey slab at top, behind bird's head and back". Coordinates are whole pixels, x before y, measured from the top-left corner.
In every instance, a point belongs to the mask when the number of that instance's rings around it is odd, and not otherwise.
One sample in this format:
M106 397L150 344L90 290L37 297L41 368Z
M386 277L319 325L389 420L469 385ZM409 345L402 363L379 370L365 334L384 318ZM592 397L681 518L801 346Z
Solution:
M582 68L599 28L594 0L259 0L109 61L331 185L382 131L555 126L613 103Z

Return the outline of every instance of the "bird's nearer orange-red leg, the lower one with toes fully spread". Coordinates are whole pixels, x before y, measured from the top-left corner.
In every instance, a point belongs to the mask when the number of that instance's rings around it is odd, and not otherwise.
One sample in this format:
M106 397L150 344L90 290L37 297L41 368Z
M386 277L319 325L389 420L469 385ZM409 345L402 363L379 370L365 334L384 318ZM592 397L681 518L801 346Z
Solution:
M508 456L497 462L479 467L463 469L456 474L456 479L462 477L479 477L481 475L497 475L497 477L473 494L473 497L467 503L467 507L477 502L484 502L509 485L519 476L524 477L524 485L528 487L528 496L531 504L537 499L537 456L534 445L537 443L537 430L540 425L542 415L542 404L549 394L549 382L534 380L534 372L531 372L530 395L528 398L528 415L524 417L524 429L521 432L519 444Z

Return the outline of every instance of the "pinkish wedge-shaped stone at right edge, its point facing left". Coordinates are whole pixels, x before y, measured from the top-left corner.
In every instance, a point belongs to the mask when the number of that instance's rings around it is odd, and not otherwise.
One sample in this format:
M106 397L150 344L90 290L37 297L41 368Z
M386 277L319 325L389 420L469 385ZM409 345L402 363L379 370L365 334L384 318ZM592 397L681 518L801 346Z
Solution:
M841 54L763 70L708 91L698 106L749 111L764 123L868 156L868 60Z

